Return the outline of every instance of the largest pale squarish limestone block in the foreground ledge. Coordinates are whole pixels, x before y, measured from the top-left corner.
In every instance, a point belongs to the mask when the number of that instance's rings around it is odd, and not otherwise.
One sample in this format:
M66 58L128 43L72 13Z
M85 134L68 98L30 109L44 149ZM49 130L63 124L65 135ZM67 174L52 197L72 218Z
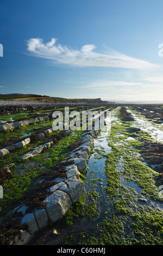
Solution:
M43 200L43 203L46 204L48 216L53 222L60 220L72 205L70 196L60 190L54 191L54 193Z

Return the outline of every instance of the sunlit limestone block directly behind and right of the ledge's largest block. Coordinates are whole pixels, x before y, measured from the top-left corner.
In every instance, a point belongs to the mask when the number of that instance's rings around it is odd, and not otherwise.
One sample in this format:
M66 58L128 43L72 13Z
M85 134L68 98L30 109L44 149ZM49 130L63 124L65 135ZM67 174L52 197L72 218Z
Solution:
M72 179L64 186L61 186L59 190L68 193L71 197L72 203L76 203L80 197L85 193L85 187L82 181Z

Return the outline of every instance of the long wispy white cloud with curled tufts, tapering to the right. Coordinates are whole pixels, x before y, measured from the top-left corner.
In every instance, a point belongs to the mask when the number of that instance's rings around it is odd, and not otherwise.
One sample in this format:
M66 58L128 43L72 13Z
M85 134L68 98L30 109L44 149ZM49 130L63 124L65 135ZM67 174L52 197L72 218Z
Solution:
M129 57L114 50L98 53L95 45L84 45L80 50L56 44L57 39L44 43L40 38L31 38L27 41L27 50L30 55L52 60L53 64L71 66L105 66L126 69L155 69L158 65L146 60Z

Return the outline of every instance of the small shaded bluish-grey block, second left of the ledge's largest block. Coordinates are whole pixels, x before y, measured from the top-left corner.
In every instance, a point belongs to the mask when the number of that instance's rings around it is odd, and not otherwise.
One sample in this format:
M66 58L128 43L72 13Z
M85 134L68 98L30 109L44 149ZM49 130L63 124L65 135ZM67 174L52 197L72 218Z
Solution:
M22 217L21 224L24 223L28 225L29 233L35 233L39 230L33 212L30 212Z

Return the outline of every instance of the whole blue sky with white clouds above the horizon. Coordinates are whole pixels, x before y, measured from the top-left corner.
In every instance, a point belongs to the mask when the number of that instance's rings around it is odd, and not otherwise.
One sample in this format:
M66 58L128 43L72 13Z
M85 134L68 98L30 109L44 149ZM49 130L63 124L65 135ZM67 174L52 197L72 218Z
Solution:
M1 0L0 94L163 102L162 10L162 0Z

